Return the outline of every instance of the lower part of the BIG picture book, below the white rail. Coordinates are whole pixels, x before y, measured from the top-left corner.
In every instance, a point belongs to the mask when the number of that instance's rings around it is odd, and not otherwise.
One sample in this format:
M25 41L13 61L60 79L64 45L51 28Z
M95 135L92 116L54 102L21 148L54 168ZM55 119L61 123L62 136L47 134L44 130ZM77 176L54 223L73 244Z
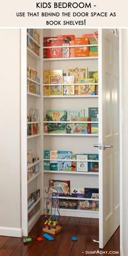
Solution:
M45 133L65 133L66 134L66 123L48 123L47 131Z

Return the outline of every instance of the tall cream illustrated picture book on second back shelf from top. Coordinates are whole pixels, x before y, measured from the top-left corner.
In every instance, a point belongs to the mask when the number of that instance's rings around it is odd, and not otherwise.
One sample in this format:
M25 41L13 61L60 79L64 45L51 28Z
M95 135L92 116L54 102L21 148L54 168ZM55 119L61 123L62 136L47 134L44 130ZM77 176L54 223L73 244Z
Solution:
M87 78L88 68L87 67L67 67L66 75L74 76L75 84L78 84L78 79Z

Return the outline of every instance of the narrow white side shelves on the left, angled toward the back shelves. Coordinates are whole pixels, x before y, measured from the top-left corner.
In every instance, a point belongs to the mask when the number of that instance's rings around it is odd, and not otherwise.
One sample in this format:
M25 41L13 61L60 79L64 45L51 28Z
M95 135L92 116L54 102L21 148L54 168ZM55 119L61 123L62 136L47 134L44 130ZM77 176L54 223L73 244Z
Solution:
M33 134L26 136L26 141L24 140L24 154L22 154L22 163L24 163L24 167L22 166L22 228L23 228L23 235L27 236L30 229L34 226L35 222L38 220L40 215L42 214L42 30L36 29L37 32L40 34L40 45L35 41L34 38L32 38L27 31L24 29L22 30L22 38L25 40L25 49L24 53L27 53L27 63L26 63L26 71L23 74L23 77L25 77L25 84L23 84L24 88L24 95L26 93L26 98L22 97L21 95L21 101L24 108L25 116L22 117L24 125L24 129L26 129L24 134L27 134L27 126L33 126L34 124L38 124L40 126L39 134ZM35 54L33 51L31 51L28 47L26 48L26 41L27 36L36 43L37 46L40 47L40 56ZM22 40L22 42L23 42ZM22 45L22 51L23 51L23 45ZM24 64L25 65L25 64ZM27 77L27 70L30 68L34 68L37 71L37 76L40 78L40 82L37 82L30 77ZM24 70L24 67L23 67ZM26 82L27 81L27 82ZM39 86L40 94L31 93L27 91L27 83L34 83L35 85ZM27 122L27 116L30 116L30 109L39 109L40 114L40 121L38 122ZM23 132L23 130L22 130ZM23 146L24 147L24 146ZM37 160L27 165L27 152L32 151L33 157L37 157ZM25 164L26 163L26 164ZM38 166L36 166L38 165ZM37 173L33 173L30 176L28 175L29 171L33 168L39 169ZM40 189L40 196L37 197L36 202L30 207L28 210L28 198L30 194L36 190ZM30 211L35 209L36 205L40 202L40 209L37 208L37 212L33 216L31 216L30 220L28 221L28 214L30 214Z

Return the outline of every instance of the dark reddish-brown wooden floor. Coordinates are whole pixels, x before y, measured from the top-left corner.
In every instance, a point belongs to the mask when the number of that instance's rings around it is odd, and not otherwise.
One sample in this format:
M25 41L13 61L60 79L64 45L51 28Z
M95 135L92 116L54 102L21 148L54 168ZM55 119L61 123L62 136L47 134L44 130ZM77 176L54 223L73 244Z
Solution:
M0 236L0 256L85 256L101 255L99 244L94 243L93 239L99 240L98 219L79 218L79 217L60 217L63 229L56 234L54 241L48 241L43 238L42 242L36 240L37 237L43 236L42 231L44 216L41 216L29 233L32 242L24 244L21 238L11 238ZM73 242L72 236L76 236L78 241ZM91 253L96 251L97 253ZM99 250L100 251L100 250ZM101 251L118 251L119 252L119 228L108 241L104 250ZM114 255L116 253L111 253ZM104 254L106 255L106 254ZM116 254L120 255L120 254Z

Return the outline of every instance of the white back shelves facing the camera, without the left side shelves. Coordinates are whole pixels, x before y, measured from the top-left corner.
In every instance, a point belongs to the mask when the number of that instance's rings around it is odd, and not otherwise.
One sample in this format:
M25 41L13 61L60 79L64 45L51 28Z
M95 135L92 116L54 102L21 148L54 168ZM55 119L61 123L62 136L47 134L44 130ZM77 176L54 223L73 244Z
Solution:
M94 33L94 29L43 29L43 36L69 35L74 34L81 37L82 34ZM44 47L44 49L53 47ZM56 47L57 48L57 47ZM50 58L43 59L43 70L63 70L66 73L67 67L88 67L89 71L98 71L98 57L85 58ZM44 84L43 84L44 85ZM51 84L47 84L51 86ZM75 84L76 85L76 84ZM43 116L47 110L63 109L85 109L85 116L88 116L88 107L98 107L98 95L94 96L43 96ZM44 121L43 123L46 123ZM60 123L60 122L59 122ZM65 122L66 123L66 122ZM84 123L84 122L82 122ZM88 122L85 122L88 123ZM98 134L48 134L43 133L43 149L72 151L75 153L98 153L93 144L98 143ZM43 159L46 160L46 159ZM47 159L48 160L48 159ZM43 171L44 186L49 185L49 179L70 180L71 188L98 188L99 173L89 172L66 172L66 171ZM79 184L79 185L78 185ZM61 197L59 197L61 198ZM64 198L64 197L62 197ZM68 199L80 199L71 198ZM44 197L44 210L46 203ZM83 199L83 198L82 198ZM87 199L87 198L86 198ZM60 209L63 216L99 217L99 212L85 211L80 209Z

